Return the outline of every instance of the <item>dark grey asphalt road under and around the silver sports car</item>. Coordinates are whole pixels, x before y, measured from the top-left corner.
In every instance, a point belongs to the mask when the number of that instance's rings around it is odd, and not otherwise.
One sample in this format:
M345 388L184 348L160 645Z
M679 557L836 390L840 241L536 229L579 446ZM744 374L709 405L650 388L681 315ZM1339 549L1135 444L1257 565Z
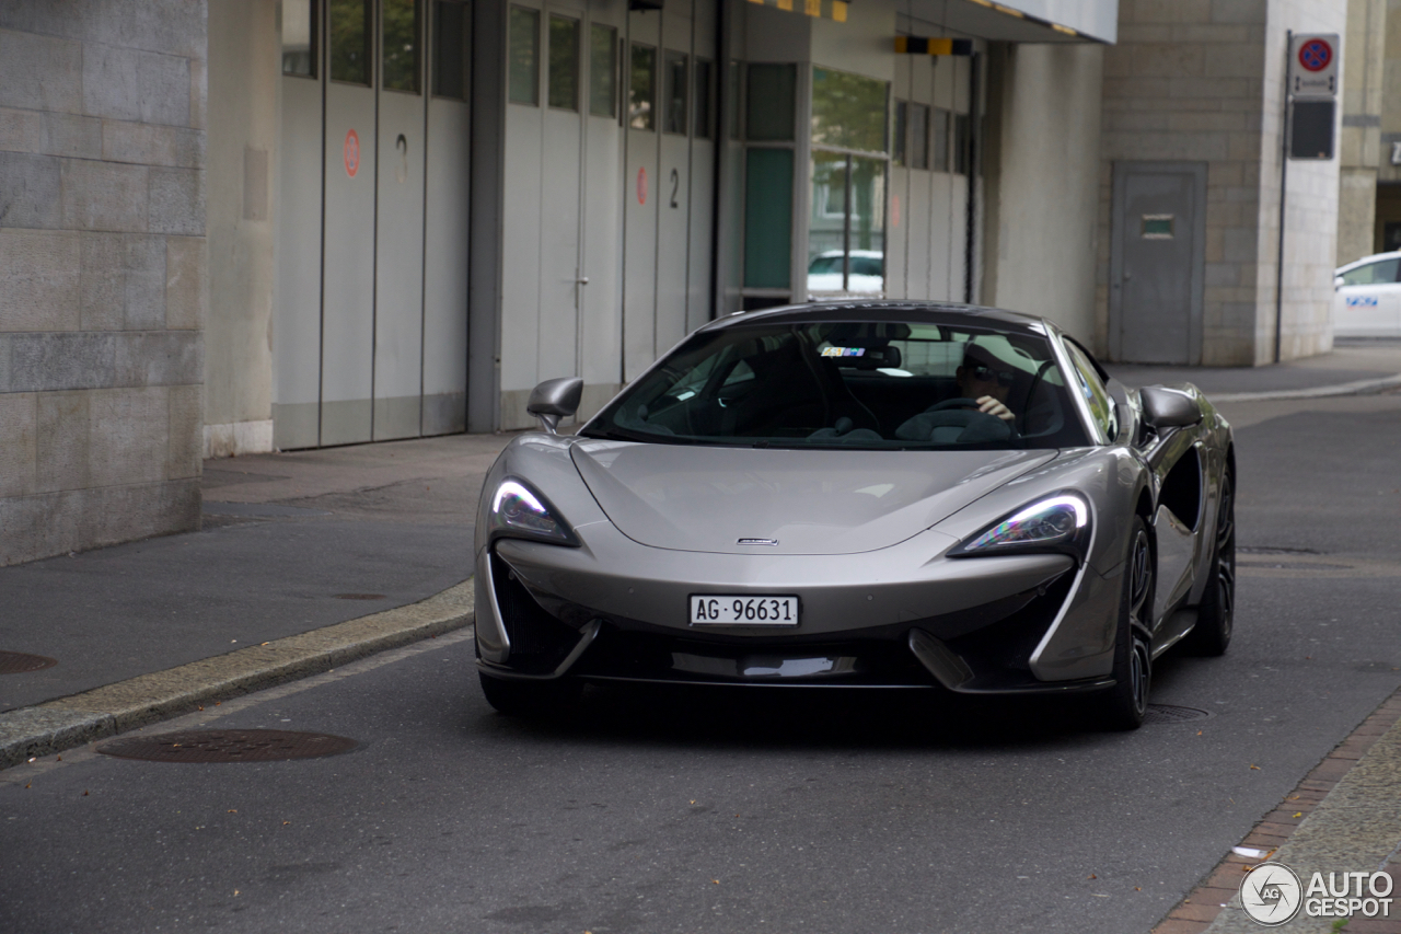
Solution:
M594 690L493 714L465 635L163 724L352 753L0 773L3 931L1147 931L1401 684L1401 395L1227 410L1222 659L1128 733L1073 705Z

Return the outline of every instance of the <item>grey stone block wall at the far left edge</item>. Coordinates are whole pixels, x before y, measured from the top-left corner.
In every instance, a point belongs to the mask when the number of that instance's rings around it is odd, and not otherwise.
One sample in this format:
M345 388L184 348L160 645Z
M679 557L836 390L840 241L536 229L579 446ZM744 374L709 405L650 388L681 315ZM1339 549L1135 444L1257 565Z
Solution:
M0 564L199 527L205 4L0 4Z

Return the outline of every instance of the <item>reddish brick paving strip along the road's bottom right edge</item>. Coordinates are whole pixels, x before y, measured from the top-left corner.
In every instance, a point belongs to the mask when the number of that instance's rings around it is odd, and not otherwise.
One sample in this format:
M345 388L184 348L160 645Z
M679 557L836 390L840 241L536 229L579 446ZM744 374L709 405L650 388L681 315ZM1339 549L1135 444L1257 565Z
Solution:
M1275 850L1283 846L1289 834L1295 832L1295 827L1303 823L1304 818L1332 791L1334 785L1348 774L1359 759L1367 754L1373 743L1398 719L1401 719L1401 690L1383 701L1370 717L1362 721L1362 725L1338 743L1237 844L1252 850L1264 850L1267 853L1264 857L1259 860L1247 860L1236 853L1227 853L1198 882L1196 888L1188 892L1187 898L1178 902L1177 907L1157 923L1152 934L1201 934L1205 931L1216 920L1216 916L1220 914L1222 906L1230 902L1240 891L1241 877L1255 862L1262 862L1274 855ZM1393 888L1394 892L1401 895L1401 860L1393 858L1393 861L1387 862L1384 871L1397 881L1397 885ZM1342 934L1401 934L1401 917L1365 919L1359 916L1349 919L1341 931Z

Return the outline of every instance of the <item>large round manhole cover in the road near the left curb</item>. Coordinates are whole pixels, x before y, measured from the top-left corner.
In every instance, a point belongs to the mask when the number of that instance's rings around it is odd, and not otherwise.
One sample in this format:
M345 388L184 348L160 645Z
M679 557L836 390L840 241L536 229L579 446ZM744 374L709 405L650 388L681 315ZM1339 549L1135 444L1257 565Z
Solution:
M118 739L97 750L118 759L146 762L277 762L335 756L359 745L345 736L290 729L186 729Z

